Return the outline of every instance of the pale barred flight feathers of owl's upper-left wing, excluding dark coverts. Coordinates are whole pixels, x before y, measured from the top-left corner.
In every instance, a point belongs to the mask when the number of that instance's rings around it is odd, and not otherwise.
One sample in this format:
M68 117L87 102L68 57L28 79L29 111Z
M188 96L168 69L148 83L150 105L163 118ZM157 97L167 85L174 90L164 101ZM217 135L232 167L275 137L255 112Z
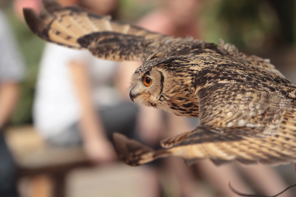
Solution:
M79 44L79 38L98 32L136 35L145 39L161 37L160 34L133 25L113 22L110 16L92 14L78 6L62 7L48 0L43 0L43 4L45 10L39 16L32 9L23 9L28 26L40 38L66 47L82 49L85 46Z

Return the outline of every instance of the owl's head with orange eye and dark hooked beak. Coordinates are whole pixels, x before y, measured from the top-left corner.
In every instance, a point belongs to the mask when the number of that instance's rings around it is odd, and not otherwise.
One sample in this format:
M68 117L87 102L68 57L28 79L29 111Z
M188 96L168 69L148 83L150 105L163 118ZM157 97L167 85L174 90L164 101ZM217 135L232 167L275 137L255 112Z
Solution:
M131 79L131 100L157 108L173 98L186 97L192 77L187 77L186 69L184 73L182 56L159 58L160 55L152 55L136 69Z

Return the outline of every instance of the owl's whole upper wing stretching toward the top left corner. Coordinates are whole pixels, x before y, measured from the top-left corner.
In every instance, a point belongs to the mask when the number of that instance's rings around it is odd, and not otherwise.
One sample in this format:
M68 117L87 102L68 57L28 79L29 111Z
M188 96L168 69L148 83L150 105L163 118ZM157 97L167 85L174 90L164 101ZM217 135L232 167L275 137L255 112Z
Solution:
M88 49L108 60L139 60L165 49L173 37L149 32L140 27L111 21L78 6L62 7L43 1L45 11L38 16L24 9L25 20L40 38L75 49Z

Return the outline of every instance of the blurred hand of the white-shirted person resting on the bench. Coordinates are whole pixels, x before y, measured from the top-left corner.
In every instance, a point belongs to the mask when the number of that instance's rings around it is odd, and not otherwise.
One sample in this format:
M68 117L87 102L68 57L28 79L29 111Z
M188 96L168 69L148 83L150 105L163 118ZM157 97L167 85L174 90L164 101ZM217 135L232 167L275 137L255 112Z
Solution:
M116 159L112 143L107 139L93 138L84 142L84 150L91 161L106 163Z

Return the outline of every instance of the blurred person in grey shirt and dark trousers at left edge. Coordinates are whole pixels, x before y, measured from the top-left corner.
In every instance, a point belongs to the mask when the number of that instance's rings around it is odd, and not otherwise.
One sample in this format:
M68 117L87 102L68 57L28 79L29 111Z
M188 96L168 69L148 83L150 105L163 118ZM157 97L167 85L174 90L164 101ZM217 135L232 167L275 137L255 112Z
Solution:
M4 141L4 126L14 110L19 83L24 77L24 63L4 13L0 10L0 196L17 195L16 166Z

